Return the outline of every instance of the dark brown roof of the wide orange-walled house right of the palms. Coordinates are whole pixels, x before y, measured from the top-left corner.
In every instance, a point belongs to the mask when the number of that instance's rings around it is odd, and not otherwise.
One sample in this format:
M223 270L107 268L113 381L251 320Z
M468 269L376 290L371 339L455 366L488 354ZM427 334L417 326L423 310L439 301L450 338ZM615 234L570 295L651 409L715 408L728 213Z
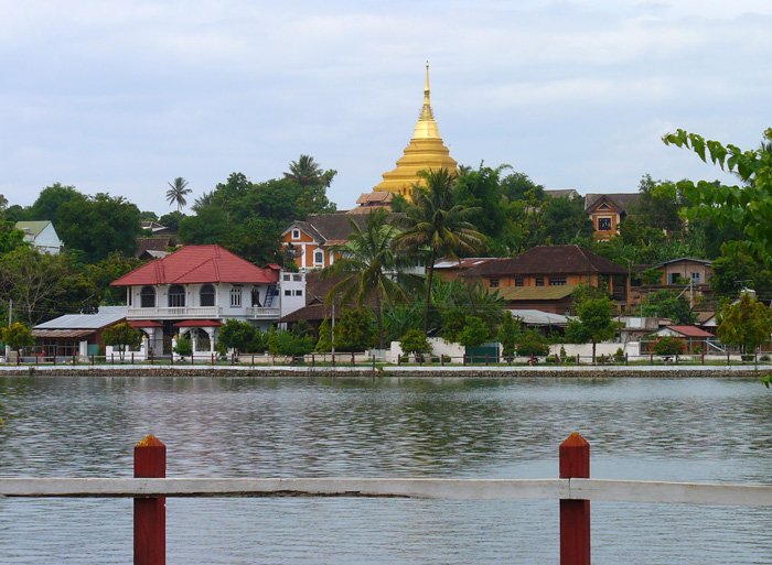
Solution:
M486 261L463 276L515 274L628 274L628 270L579 246L538 246L511 259Z

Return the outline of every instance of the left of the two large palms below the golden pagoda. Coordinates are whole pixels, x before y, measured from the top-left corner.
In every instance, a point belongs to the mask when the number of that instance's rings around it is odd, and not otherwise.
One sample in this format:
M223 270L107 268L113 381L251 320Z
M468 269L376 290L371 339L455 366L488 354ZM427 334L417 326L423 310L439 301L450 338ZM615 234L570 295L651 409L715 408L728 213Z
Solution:
M392 240L397 229L392 226L388 213L379 208L367 215L364 229L360 228L351 217L349 241L332 248L333 253L341 253L322 273L322 280L340 278L328 292L325 302L332 304L341 296L341 304L354 304L362 307L364 303L375 297L378 301L376 317L378 319L378 336L380 348L384 347L384 326L380 305L388 305L407 296L406 289L415 287L416 278L405 272L410 267L407 256L398 254L392 247Z

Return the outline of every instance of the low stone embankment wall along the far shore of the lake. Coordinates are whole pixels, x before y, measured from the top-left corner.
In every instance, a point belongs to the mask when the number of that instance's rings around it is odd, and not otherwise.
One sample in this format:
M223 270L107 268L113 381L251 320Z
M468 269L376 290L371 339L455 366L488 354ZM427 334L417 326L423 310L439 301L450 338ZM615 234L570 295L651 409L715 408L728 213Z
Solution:
M398 377L398 378L758 378L772 372L772 365L759 366L458 366L458 367L414 367L414 366L372 366L360 367L191 367L191 366L42 366L42 367L0 367L0 376L14 377Z

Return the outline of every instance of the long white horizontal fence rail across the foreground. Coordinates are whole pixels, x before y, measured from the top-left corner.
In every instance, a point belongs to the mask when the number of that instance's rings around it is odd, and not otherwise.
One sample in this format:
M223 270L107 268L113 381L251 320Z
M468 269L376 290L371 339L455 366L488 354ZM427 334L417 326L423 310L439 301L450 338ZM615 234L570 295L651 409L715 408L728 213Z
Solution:
M772 507L772 486L604 479L0 478L4 497L400 497Z

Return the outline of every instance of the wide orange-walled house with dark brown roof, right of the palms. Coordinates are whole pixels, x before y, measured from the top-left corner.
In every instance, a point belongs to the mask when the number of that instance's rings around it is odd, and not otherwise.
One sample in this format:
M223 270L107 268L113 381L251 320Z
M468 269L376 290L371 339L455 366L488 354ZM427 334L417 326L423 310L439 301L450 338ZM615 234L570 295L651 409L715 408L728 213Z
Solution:
M579 246L535 247L514 258L485 261L462 276L491 291L497 289L511 308L566 314L578 284L598 286L601 282L621 309L629 306L628 269Z

